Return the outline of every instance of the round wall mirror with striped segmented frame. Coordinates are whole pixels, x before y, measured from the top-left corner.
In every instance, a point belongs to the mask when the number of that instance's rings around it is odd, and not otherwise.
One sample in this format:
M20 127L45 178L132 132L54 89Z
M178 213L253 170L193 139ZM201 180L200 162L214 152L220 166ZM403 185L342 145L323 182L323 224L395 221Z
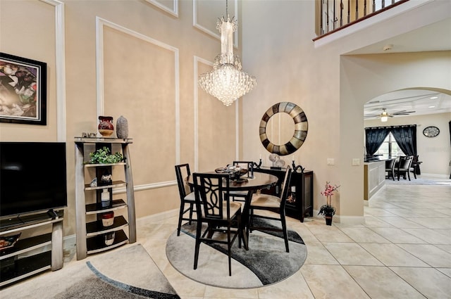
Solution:
M286 122L283 120L283 118L285 117L282 117L282 121L276 121L278 122L278 124L280 124L280 127L276 126L278 127L278 130L276 130L276 132L279 133L274 133L273 131L271 131L268 136L266 130L268 127L268 122L272 127L274 127L275 124L271 124L271 122L274 122L272 117L274 115L277 115L278 113L287 113L290 116L291 121L294 122L294 133L291 133L293 132L292 126L282 125ZM276 103L271 108L266 110L266 113L263 115L263 117L261 117L260 141L261 144L263 144L263 146L266 148L266 151L270 153L277 153L278 155L290 155L290 153L294 153L298 148L302 146L302 144L304 144L308 129L309 124L302 108L294 103L280 102ZM291 136L291 138L285 144L276 141L276 139L285 141L286 139L284 139L284 134L286 132L289 132L288 134L290 134L289 136Z

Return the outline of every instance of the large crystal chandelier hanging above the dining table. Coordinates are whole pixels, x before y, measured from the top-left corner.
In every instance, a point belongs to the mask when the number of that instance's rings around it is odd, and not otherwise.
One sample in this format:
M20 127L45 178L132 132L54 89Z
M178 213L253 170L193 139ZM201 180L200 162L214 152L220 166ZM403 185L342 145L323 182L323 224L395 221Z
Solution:
M216 29L221 32L221 54L214 58L213 70L199 76L199 85L224 105L244 96L257 84L254 76L243 72L240 57L233 55L233 32L237 29L235 17L230 19L226 1L227 20L218 19Z

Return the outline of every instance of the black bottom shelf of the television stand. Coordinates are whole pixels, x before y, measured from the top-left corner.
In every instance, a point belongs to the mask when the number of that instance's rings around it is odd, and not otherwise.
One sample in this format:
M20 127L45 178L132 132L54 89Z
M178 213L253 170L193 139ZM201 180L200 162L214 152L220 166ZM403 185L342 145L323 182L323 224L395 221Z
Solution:
M51 251L20 259L10 258L14 259L14 262L11 262L10 265L5 265L6 260L1 262L5 266L1 265L0 286L6 286L20 279L51 269Z

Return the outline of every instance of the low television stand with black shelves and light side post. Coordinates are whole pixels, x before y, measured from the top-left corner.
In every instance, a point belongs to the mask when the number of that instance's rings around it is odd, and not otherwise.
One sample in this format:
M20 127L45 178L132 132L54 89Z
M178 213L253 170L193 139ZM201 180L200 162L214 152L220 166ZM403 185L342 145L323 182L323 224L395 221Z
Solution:
M56 216L55 216L56 215ZM0 236L20 234L27 229L51 225L51 233L19 238L12 248L0 250L0 288L20 279L63 267L63 210L11 217L0 221ZM51 245L51 250L32 253ZM31 255L22 257L25 253Z

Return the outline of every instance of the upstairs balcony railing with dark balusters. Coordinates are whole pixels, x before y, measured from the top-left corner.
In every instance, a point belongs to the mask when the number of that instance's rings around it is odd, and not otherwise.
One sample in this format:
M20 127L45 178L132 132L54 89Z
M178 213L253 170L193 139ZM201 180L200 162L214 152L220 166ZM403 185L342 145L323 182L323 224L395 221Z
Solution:
M316 0L319 39L409 0Z

